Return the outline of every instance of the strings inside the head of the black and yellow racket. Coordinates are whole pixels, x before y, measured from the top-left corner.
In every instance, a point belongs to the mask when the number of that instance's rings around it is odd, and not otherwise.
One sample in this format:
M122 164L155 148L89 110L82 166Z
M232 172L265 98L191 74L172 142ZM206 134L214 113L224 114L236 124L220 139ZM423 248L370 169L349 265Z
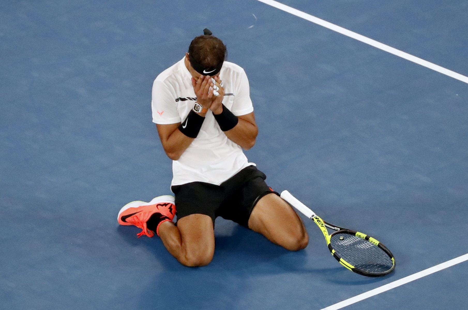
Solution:
M337 233L331 237L331 247L343 260L359 270L378 274L390 270L392 259L377 245L347 233Z

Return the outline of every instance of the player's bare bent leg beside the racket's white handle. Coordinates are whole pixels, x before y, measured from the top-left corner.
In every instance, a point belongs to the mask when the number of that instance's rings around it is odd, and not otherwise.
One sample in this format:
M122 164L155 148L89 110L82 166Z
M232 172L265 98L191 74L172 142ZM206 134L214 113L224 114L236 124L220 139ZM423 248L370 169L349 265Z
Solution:
M291 251L305 248L309 240L297 213L273 193L263 196L256 203L250 214L249 228Z

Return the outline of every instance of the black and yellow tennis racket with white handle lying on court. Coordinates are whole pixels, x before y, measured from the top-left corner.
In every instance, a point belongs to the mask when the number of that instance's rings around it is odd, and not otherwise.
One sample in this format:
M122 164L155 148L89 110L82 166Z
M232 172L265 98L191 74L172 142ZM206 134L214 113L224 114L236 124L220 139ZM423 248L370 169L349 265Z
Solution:
M368 277L380 277L395 269L393 254L376 239L323 221L287 190L281 193L281 198L319 226L331 254L344 267ZM334 230L331 235L327 227Z

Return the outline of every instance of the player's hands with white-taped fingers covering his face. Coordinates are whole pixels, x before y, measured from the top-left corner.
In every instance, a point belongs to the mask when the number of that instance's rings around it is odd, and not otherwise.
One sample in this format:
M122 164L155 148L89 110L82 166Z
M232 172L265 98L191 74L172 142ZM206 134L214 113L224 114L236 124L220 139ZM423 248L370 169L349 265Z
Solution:
M212 81L214 79L214 83ZM198 79L192 78L192 86L195 94L197 95L197 102L203 108L209 108L213 114L220 114L223 111L221 102L224 98L224 88L221 87L222 81L219 76L210 77L209 75L200 75ZM213 87L218 90L213 89ZM213 91L217 91L218 95L215 96Z

